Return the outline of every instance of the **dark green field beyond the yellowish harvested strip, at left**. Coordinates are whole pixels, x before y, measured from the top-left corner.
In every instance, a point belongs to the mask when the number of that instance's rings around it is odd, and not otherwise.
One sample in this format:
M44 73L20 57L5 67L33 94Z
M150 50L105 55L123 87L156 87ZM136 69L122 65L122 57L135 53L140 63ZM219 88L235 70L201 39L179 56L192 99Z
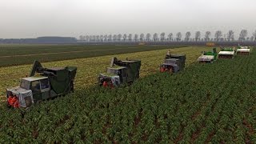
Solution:
M0 45L0 66L17 66L74 58L90 58L147 50L163 50L183 46L85 46L85 45Z

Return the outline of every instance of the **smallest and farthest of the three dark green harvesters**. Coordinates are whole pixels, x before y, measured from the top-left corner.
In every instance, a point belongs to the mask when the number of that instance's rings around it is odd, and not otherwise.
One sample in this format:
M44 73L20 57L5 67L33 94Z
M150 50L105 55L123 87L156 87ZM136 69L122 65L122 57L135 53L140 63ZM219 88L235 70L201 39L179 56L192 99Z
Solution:
M185 67L185 54L166 54L164 62L160 65L160 72L177 73Z

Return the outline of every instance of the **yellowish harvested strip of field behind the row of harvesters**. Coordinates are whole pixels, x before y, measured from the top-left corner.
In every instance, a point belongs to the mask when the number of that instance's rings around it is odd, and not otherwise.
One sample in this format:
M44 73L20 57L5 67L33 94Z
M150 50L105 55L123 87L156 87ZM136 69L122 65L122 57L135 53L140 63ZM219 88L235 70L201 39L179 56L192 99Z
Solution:
M207 47L182 47L171 50L173 54L186 54L186 66L196 62L202 50L210 50ZM58 62L43 62L44 67L59 66L77 66L78 71L75 78L75 89L85 89L97 82L99 73L104 72L107 66L110 66L112 57L120 59L140 59L142 67L140 75L142 77L148 74L158 72L159 65L163 62L167 50L150 50L130 54L114 54L94 58L78 58L71 60L63 60ZM34 61L34 60L31 60ZM5 66L0 68L0 95L5 94L6 88L18 86L20 78L26 77L30 73L32 64L22 66ZM2 97L3 99L4 97ZM0 97L1 99L1 97ZM1 104L0 104L1 105Z

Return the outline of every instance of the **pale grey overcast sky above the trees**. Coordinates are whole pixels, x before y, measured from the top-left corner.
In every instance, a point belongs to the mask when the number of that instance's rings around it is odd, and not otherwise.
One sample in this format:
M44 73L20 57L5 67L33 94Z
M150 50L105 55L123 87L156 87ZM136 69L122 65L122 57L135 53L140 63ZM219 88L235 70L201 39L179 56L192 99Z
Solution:
M242 29L250 36L255 14L256 0L0 0L0 38Z

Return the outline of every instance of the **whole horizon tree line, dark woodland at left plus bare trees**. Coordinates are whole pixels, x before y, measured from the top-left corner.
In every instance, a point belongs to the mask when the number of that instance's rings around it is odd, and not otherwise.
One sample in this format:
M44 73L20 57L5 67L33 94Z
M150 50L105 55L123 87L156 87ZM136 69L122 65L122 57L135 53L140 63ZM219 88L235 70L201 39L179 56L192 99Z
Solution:
M203 34L201 31L196 31L193 36L190 31L187 31L184 35L181 32L176 34L162 32L161 34L80 35L78 39L73 37L0 38L0 43L138 44L138 42L145 42L152 45L205 45L206 42L214 42L219 45L237 45L238 43L256 45L256 30L251 35L248 34L247 30L241 30L236 36L234 30L229 30L227 33L216 30L213 34L210 31Z

